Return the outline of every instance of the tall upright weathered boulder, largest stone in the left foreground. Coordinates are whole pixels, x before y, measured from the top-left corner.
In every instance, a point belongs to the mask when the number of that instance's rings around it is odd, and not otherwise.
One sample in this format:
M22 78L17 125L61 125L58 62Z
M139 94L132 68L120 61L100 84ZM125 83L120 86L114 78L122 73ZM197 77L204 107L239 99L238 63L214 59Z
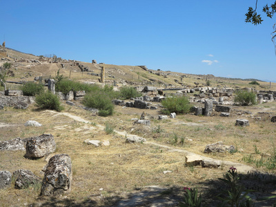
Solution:
M46 167L40 195L51 196L69 193L71 182L72 163L69 155L55 155L51 157Z

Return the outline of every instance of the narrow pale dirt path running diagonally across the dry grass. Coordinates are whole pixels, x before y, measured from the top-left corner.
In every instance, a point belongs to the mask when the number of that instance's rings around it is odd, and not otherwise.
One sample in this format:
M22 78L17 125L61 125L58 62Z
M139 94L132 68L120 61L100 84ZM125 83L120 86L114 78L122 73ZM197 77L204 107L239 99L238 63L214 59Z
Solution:
M47 110L47 112L55 113L55 115L64 115L64 116L70 117L71 119L74 119L75 121L80 121L80 122L83 122L83 123L86 123L86 124L90 124L90 122L91 122L91 121L83 119L79 116L71 115L68 112L55 112L55 111L52 111L52 110ZM104 126L101 126L101 125L97 124L97 128L95 128L94 126L90 126L90 128L92 128L92 129L99 128L99 129L103 130ZM131 134L128 134L126 131L124 131L124 132L118 131L118 130L114 130L114 131L118 135L122 135L122 136L131 135ZM223 161L223 160L219 160L219 159L213 159L213 158L206 157L206 156L203 156L203 155L197 155L193 152L189 152L188 150L177 149L177 148L173 148L171 146L158 144L158 143L152 142L152 141L146 141L144 144L151 144L151 145L154 145L154 146L159 146L161 148L166 148L167 150L172 151L172 152L184 153L184 155L186 155L186 156L200 157L203 161L217 161L217 162L221 163L222 166L226 166L228 168L231 167L231 166L235 166L236 168L239 168L239 172L242 172L242 173L247 173L248 171L249 172L257 172L257 170L255 168L251 167L251 166L246 166L244 164L239 164L239 163L233 162L233 161Z

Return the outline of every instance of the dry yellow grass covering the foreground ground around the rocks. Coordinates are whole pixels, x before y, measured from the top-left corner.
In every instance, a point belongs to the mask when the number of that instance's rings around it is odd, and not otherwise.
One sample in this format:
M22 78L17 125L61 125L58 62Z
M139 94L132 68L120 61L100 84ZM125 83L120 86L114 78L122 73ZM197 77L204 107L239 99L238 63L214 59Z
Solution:
M139 117L143 110L133 108L129 110L117 106L116 113L112 116L112 124L115 130L136 132L148 141L189 150L199 155L204 155L203 151L207 144L224 141L227 145L237 146L238 151L234 154L217 153L208 156L242 163L244 155L255 152L254 145L262 153L271 153L272 144L275 142L273 132L275 124L270 122L268 114L256 114L262 115L263 118L255 120L251 119L250 115L237 115L235 111L246 109L253 114L261 110L275 112L275 103L269 103L267 106L269 108L265 105L254 108L237 107L228 118L179 115L177 119L154 120L150 128L132 124L131 118ZM106 122L110 121L110 117L92 117L90 112L72 106L66 106L64 112L82 117L91 124L75 121L62 113L39 111L35 107L28 110L5 108L0 111L1 122L10 124L8 128L0 128L1 141L15 137L37 136L43 132L51 133L57 143L55 153L66 153L72 158L72 193L67 197L58 198L57 203L61 206L66 206L68 199L71 203L91 204L92 202L95 206L108 206L114 204L117 199L126 197L126 193L150 185L177 188L199 186L204 190L204 183L221 177L227 170L226 168L215 170L186 167L185 156L181 152L172 152L151 144L126 144L123 136L107 135L100 125L105 126ZM154 117L159 114L157 110L147 112ZM236 127L237 118L249 119L250 126ZM30 119L39 121L43 126L40 128L23 126ZM96 126L92 123L96 123ZM156 130L157 128L159 130ZM178 137L176 143L173 142L175 135ZM180 144L181 137L184 137L184 144ZM110 146L95 148L83 144L83 141L88 138L109 140ZM41 168L46 161L25 159L23 155L24 152L21 151L1 151L0 170L14 172L19 168L26 168L42 178ZM172 173L165 175L164 170L172 170ZM99 190L100 188L103 190ZM15 190L10 187L1 190L0 201L6 206L17 206L18 204L46 204L49 199L39 197L37 189Z

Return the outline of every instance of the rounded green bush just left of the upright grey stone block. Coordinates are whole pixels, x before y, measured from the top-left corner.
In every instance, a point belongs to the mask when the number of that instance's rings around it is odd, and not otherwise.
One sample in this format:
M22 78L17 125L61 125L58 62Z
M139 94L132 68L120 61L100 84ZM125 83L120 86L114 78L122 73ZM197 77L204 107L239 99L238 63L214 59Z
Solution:
M161 101L161 104L166 108L164 113L184 114L190 112L190 102L187 97L168 97Z

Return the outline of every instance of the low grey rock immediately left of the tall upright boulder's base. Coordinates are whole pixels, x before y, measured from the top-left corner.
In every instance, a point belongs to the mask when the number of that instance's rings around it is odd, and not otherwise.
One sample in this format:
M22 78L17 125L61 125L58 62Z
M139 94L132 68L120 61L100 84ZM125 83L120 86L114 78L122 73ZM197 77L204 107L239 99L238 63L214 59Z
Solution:
M30 185L39 184L41 179L34 175L30 170L16 170L13 172L13 177L16 179L14 187L17 189L28 188Z

